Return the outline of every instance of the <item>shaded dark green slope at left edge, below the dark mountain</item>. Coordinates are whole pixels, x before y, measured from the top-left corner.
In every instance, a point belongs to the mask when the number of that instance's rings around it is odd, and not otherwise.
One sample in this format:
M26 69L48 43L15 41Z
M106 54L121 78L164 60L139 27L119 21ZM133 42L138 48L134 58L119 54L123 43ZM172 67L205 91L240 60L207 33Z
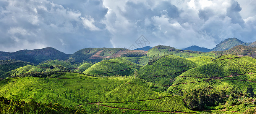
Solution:
M21 60L0 60L0 76L8 71L15 70L26 65L33 65L32 63Z

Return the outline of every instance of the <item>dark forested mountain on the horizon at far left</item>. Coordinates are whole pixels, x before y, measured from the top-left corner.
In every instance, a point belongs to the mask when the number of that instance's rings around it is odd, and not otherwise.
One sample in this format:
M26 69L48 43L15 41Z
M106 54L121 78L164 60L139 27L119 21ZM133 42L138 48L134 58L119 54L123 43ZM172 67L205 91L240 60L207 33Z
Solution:
M43 49L34 49L34 50L20 50L16 52L0 52L0 59L16 59L26 62L31 62L38 64L44 60L65 60L68 59L70 55L58 51L52 47L46 47Z

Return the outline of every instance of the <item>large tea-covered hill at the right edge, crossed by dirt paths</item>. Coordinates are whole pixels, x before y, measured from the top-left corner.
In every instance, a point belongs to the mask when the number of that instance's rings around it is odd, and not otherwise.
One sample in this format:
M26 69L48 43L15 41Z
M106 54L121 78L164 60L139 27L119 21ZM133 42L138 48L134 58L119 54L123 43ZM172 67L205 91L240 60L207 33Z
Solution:
M206 86L234 87L246 91L248 85L256 90L256 59L223 55L212 62L192 68L175 78L169 90L176 93L179 90L196 89ZM251 80L251 81L250 81Z

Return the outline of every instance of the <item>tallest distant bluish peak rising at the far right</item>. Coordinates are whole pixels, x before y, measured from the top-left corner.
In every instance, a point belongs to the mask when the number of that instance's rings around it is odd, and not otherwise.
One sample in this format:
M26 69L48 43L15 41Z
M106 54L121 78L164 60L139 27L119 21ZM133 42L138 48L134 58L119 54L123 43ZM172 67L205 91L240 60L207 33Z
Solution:
M244 43L243 41L238 40L237 38L228 38L217 44L216 47L211 49L211 51L225 51L238 45L248 46L249 44L251 43Z

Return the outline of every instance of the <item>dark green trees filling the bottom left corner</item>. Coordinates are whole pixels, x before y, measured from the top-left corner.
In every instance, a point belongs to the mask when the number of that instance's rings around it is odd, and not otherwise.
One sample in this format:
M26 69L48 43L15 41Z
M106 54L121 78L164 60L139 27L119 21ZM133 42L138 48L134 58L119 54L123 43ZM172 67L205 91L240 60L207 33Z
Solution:
M37 103L35 100L14 101L0 97L0 113L1 114L87 114L83 107L68 108L60 105L59 103ZM109 114L109 113L107 113Z

